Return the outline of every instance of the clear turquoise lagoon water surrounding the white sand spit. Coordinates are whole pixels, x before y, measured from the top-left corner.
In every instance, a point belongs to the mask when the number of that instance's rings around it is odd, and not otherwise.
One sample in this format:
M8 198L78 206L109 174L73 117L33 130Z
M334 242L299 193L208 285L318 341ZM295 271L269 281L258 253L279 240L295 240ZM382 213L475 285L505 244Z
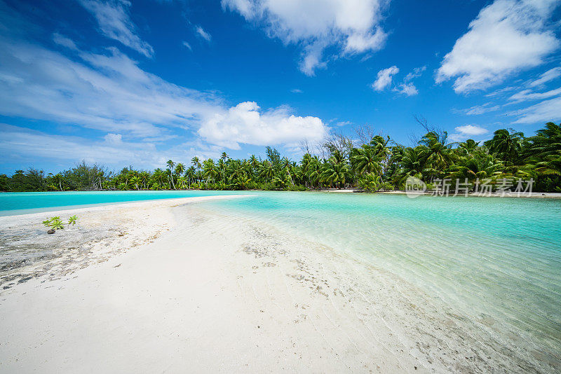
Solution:
M0 195L0 211L239 194L250 196L200 207L344 251L473 319L492 317L560 352L561 200L255 191L9 193Z

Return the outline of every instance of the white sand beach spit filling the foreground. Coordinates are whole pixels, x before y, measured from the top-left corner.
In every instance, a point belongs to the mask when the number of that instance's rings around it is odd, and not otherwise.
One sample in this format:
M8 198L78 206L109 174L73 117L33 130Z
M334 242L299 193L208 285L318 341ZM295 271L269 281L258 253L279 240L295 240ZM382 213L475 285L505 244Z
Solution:
M545 373L557 364L498 340L492 321L464 324L425 303L382 269L198 204L220 198L1 217L4 252L34 244L37 255L18 264L12 253L0 272L0 372ZM69 214L76 227L46 235L46 216ZM43 240L56 250L41 257Z

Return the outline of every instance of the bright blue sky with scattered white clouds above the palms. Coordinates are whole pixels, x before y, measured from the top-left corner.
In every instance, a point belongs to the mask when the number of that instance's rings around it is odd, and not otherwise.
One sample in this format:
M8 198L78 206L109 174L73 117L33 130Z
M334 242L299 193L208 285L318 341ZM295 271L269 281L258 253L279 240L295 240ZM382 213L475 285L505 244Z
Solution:
M560 1L0 0L0 172L561 120Z

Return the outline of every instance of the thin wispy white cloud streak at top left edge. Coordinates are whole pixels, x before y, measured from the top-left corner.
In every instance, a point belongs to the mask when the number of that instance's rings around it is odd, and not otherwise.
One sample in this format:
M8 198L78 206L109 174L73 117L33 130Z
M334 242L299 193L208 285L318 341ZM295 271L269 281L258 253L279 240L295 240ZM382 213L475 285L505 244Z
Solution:
M154 55L154 48L136 34L136 27L128 14L129 1L79 0L79 2L95 17L102 34L137 50L146 57Z

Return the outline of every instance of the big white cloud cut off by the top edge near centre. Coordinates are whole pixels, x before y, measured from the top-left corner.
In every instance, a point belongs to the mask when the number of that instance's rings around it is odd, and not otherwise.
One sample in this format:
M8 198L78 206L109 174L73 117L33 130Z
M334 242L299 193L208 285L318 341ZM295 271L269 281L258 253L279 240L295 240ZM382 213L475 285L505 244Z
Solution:
M325 67L323 51L339 46L350 55L379 50L386 41L381 29L384 0L222 0L224 9L263 25L269 36L304 47L300 69L309 76Z

